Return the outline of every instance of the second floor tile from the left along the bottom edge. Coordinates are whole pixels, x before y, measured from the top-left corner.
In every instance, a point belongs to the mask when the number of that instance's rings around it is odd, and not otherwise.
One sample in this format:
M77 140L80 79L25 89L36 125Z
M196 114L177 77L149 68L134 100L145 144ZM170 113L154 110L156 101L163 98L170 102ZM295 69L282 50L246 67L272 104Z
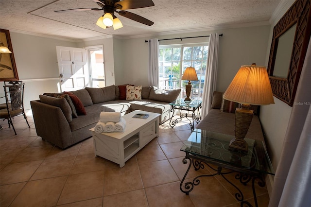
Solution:
M11 207L55 206L65 185L67 176L28 182L17 195Z

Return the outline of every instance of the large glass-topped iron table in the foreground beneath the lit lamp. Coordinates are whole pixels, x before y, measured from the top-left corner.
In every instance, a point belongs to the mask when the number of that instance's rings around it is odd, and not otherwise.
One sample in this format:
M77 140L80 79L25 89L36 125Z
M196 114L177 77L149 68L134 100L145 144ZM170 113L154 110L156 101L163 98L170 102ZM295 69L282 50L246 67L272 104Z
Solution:
M186 153L183 163L187 164L189 161L188 170L180 183L180 190L188 195L194 186L200 184L201 177L218 174L238 191L235 193L235 197L241 202L241 207L251 207L249 202L244 201L242 191L225 178L225 174L237 173L235 178L242 184L246 185L251 182L255 206L258 207L255 181L258 181L260 187L264 187L264 174L275 174L265 144L261 140L244 138L248 143L248 152L229 150L228 146L232 138L234 136L195 129L180 149ZM202 174L193 178L192 181L184 183L191 164L196 171L208 167L214 173Z

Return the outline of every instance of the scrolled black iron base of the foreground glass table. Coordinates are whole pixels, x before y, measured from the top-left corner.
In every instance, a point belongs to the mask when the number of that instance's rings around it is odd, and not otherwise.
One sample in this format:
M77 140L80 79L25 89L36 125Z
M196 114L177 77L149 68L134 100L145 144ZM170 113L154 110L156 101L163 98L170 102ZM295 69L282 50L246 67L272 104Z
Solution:
M200 177L210 177L210 176L214 176L214 175L221 175L229 184L231 184L235 189L238 190L237 193L235 193L235 198L241 202L241 207L252 207L252 205L247 202L244 201L244 196L242 191L236 186L234 185L232 182L230 182L227 178L225 178L225 174L229 174L229 173L237 173L235 176L235 179L240 180L240 182L243 185L247 185L248 182L252 181L252 190L253 190L253 195L254 195L254 201L255 201L255 207L258 207L258 202L257 202L257 197L256 197L256 190L255 190L255 180L259 179L258 181L258 185L260 187L264 187L265 186L265 182L262 179L262 177L259 174L254 174L254 175L250 175L250 174L246 174L246 173L241 173L241 172L237 172L237 171L230 171L230 172L222 172L223 171L223 167L219 166L217 169L211 167L204 159L201 159L198 156L195 155L190 155L189 153L186 153L186 157L183 158L183 163L187 164L189 160L189 166L188 169L183 177L183 179L180 182L180 190L184 193L186 193L186 195L189 195L189 193L193 190L194 186L197 186L200 184ZM191 167L191 163L194 167L194 170L199 170L199 169L204 169L205 165L207 165L210 169L214 170L216 173L213 174L204 174L204 175L199 175L196 176L195 178L193 178L192 182L186 182L184 185L184 181L186 179L187 174L189 173L190 167Z

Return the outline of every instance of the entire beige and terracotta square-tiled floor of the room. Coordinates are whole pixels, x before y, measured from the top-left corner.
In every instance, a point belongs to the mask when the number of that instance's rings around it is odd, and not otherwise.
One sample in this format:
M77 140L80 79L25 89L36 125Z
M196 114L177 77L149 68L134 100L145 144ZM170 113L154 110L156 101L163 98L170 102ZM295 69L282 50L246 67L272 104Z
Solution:
M189 124L173 129L160 126L160 135L125 163L119 165L95 157L92 138L61 150L37 137L31 111L31 128L15 117L17 135L0 124L1 207L239 207L235 189L221 175L201 178L189 195L179 189L188 165L182 163L182 141L190 135ZM187 179L207 169L190 170ZM252 205L251 186L236 183ZM266 188L256 186L259 207L266 207Z

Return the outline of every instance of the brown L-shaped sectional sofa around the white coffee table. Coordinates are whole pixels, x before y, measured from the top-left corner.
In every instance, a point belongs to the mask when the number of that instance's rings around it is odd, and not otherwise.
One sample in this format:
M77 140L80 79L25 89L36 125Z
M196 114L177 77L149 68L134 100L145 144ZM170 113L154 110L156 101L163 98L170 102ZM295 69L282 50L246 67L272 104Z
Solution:
M160 123L172 116L170 103L177 99L180 89L165 91L144 86L141 100L124 100L124 97L120 100L124 86L86 87L40 95L40 100L30 102L37 135L65 149L92 136L89 129L99 121L102 111L121 112L122 115L134 110L155 112L161 114ZM80 106L75 105L72 97L81 101Z

